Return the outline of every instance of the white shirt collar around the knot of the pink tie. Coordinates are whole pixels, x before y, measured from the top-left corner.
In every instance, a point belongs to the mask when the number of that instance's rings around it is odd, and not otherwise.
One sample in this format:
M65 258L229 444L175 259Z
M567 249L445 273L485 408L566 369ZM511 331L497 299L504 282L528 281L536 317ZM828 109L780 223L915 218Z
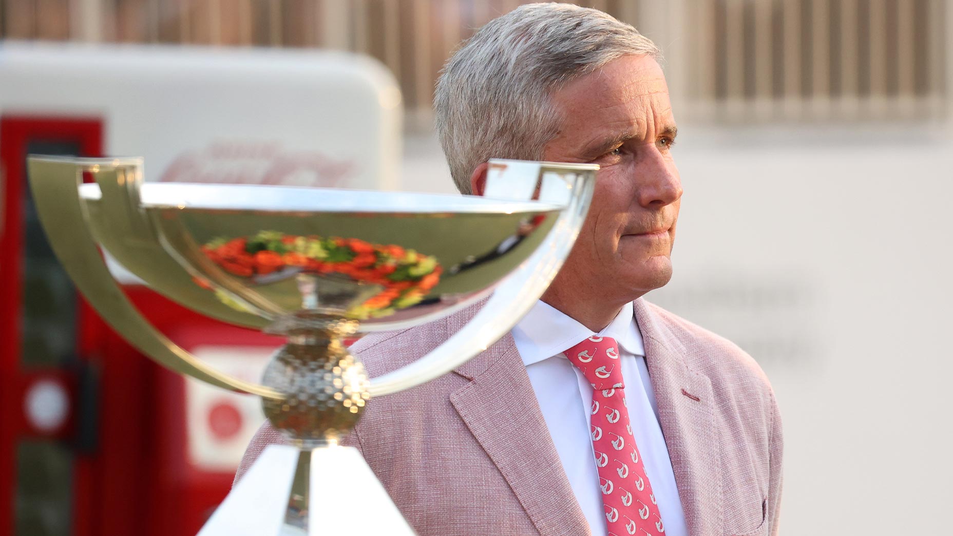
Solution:
M514 326L512 333L526 366L553 356L564 357L562 352L567 348L594 335L615 339L624 352L645 355L631 301L622 306L605 329L595 333L552 305L537 300L530 312Z

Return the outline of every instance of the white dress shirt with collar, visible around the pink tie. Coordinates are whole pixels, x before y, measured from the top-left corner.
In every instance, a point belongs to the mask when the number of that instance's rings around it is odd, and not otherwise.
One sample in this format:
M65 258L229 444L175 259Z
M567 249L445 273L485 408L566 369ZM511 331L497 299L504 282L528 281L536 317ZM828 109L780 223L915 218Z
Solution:
M688 528L681 510L672 462L659 426L659 409L645 365L645 347L632 303L622 307L616 319L596 334L551 305L537 301L512 333L536 392L539 409L556 444L562 468L594 536L606 534L607 528L589 435L593 388L562 352L593 335L611 337L618 342L632 435L659 503L665 534L687 536Z

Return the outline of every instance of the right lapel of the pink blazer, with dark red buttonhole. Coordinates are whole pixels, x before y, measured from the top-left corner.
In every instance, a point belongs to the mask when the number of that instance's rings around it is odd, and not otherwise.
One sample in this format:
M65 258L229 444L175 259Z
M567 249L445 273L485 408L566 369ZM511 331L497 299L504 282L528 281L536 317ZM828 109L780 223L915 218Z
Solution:
M635 302L645 343L645 362L659 405L659 423L679 486L679 499L693 535L720 534L723 516L720 438L714 394L707 376L689 369L684 345L665 320Z

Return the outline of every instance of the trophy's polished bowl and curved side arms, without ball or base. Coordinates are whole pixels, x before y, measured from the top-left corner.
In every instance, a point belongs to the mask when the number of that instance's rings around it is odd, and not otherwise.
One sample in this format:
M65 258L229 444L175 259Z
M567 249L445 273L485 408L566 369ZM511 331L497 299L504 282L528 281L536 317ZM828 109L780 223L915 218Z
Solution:
M54 251L120 333L173 370L281 399L155 333L92 244L186 307L277 333L340 319L401 329L500 291L470 329L371 381L381 395L451 370L525 314L572 246L597 169L494 160L487 197L473 197L144 184L138 158L31 157L30 183ZM95 183L80 185L84 173Z

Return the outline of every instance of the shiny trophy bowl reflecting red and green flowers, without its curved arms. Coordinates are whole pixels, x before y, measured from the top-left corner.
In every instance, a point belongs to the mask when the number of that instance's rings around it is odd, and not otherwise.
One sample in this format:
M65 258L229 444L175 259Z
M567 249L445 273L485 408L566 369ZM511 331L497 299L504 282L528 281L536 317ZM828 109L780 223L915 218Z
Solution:
M94 234L147 282L168 266L142 263L141 243L122 236L99 207L96 184L80 187ZM471 196L409 195L248 185L144 183L139 206L185 273L156 285L202 309L220 304L284 332L307 318L360 320L395 329L470 302L536 249L562 207ZM186 274L187 273L187 274ZM186 279L188 276L188 279ZM187 283L186 281L190 281ZM399 315L395 315L400 312Z

